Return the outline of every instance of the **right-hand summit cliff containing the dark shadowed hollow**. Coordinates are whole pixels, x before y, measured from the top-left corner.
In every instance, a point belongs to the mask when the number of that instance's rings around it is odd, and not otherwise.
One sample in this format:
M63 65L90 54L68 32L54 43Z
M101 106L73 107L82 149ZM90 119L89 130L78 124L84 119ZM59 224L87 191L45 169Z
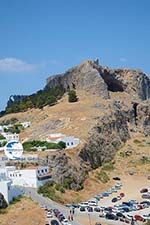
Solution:
M139 70L100 68L100 74L110 91L125 91L133 99L150 98L150 79Z

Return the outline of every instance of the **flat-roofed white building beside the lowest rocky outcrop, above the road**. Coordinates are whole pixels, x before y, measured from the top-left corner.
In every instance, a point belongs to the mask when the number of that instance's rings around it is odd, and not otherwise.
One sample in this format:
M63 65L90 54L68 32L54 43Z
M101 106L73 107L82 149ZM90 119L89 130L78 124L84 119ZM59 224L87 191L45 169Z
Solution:
M47 166L20 170L16 167L6 167L6 173L13 185L23 187L38 188L51 179Z

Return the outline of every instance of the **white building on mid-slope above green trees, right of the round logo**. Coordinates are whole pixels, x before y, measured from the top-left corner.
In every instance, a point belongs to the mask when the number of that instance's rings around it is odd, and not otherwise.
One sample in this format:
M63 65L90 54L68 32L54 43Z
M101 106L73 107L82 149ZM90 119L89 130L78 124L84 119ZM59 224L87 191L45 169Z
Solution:
M74 148L80 143L79 138L75 138L73 136L66 136L61 133L50 134L47 137L46 141L50 143L59 143L60 141L63 141L64 143L66 143L66 148Z

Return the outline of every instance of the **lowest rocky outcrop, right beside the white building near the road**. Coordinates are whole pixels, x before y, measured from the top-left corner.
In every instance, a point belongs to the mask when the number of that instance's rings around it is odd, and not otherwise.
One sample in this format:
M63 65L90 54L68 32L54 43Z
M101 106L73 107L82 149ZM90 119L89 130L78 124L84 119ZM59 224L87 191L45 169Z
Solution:
M88 171L84 164L75 165L71 158L61 151L47 156L43 163L49 165L52 179L56 183L69 189L82 189Z

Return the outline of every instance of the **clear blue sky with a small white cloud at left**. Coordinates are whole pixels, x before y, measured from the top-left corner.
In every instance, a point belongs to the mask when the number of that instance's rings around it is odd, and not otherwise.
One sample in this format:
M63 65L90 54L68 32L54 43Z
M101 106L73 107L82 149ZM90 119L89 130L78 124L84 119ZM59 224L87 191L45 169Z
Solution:
M150 73L149 0L0 0L0 109L85 59Z

